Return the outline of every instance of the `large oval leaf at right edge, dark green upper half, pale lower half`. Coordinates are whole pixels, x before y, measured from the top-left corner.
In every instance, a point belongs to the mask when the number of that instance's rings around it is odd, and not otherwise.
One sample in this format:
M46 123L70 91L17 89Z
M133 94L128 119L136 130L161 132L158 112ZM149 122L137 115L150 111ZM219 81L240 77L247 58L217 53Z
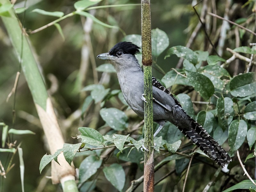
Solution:
M229 88L234 97L246 97L256 93L255 73L249 72L235 76L231 79Z

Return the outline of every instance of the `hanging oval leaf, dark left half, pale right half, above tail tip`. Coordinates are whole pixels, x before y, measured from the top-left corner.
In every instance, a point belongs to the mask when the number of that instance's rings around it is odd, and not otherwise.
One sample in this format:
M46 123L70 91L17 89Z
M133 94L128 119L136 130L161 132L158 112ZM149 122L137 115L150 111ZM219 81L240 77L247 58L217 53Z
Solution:
M234 153L243 143L247 133L247 124L244 120L234 120L228 128L228 144Z

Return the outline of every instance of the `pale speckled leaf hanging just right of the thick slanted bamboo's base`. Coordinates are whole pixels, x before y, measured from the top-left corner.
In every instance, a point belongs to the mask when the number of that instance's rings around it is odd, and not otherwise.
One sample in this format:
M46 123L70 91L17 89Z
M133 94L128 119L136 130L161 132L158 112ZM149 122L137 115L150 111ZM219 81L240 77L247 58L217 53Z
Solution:
M96 156L86 157L79 166L79 183L84 183L94 175L102 164Z

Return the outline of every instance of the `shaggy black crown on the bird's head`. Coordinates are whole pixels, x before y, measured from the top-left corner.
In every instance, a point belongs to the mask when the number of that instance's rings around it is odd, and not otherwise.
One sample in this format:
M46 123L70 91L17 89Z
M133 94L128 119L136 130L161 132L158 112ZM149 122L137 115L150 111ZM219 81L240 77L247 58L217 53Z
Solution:
M121 41L112 47L112 49L110 49L109 54L116 55L117 52L121 51L124 54L135 55L136 53L140 52L139 49L140 47L133 44L132 42Z

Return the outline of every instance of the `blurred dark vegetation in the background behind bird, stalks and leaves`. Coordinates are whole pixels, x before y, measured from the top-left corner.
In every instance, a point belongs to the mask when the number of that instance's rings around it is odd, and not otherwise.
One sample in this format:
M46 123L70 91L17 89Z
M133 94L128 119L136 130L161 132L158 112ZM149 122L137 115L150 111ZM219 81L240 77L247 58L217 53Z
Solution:
M28 1L32 2L32 1ZM35 12L31 12L33 9L42 9L45 11L62 11L65 14L74 11L73 4L76 1L39 1L39 3L30 6L27 11L25 18L23 14L19 14L20 20L24 19L24 28L27 31L39 28L47 23L50 23L55 18L51 16L43 16ZM225 12L226 1L214 1L217 7L217 14L223 16ZM239 18L248 18L252 12L252 7L242 5L247 1L233 1L230 4L230 20L235 21ZM17 3L21 3L17 1ZM140 1L135 0L103 0L100 5L108 4L136 4ZM163 30L170 39L169 47L176 45L185 46L191 32L198 23L198 17L196 16L192 6L192 1L180 0L180 1L170 1L170 0L157 0L151 1L151 20L152 29L159 28ZM236 11L232 12L232 8L237 6ZM208 1L207 6L209 6L209 12L212 12L212 1ZM202 8L202 3L196 6L200 14ZM129 34L140 34L140 6L132 7L121 7L121 8L106 8L97 9L91 11L99 20L108 23L110 25L119 26L124 30L126 35ZM207 19L212 20L211 16L207 16ZM252 28L255 31L255 16L253 21L248 23L246 27ZM78 134L77 128L80 126L99 128L105 124L99 115L100 107L95 104L90 107L87 111L86 116L82 120L80 116L76 116L74 112L78 112L81 109L84 98L86 97L85 92L80 92L80 90L90 84L95 84L102 78L102 73L98 72L98 77L93 75L92 63L95 60L96 66L100 66L104 62L102 60L96 59L96 56L100 53L107 52L114 44L121 41L124 36L122 33L113 28L106 28L99 24L93 23L92 29L89 32L91 38L92 49L88 45L89 54L91 59L85 64L87 72L84 73L84 80L81 84L76 84L76 77L79 72L81 65L81 49L83 46L87 46L84 41L84 30L83 25L85 18L78 15L70 17L60 22L63 29L65 40L63 40L58 32L58 30L51 26L43 31L36 34L29 35L32 47L34 48L35 55L37 57L39 68L43 76L45 77L46 86L49 89L49 94L52 97L53 105L56 109L57 116L60 121L61 129L63 130L64 138L66 143L76 143L77 140L72 139L71 136L76 136ZM222 20L217 19L217 28L222 24ZM254 25L254 27L253 27ZM211 28L208 31L211 35ZM234 49L236 47L234 28L229 29L228 35L226 37L226 43L224 46L223 58L228 59L231 54L225 51L226 47ZM214 37L214 34L210 36ZM255 37L251 34L245 33L243 38L241 38L239 46L249 46L249 42ZM254 41L255 42L255 41ZM218 40L213 42L215 45L218 44ZM204 30L198 31L198 35L194 43L190 46L192 50L207 51L209 46L208 40L205 38ZM165 71L168 72L171 68L175 67L179 61L179 58L172 55L171 57L164 60L166 52L162 53L157 64ZM215 54L212 50L210 54ZM93 59L92 59L93 58ZM234 67L228 68L230 74L238 74L244 72L244 62L239 61L239 67L235 70ZM255 69L255 68L253 68ZM35 105L33 103L30 91L28 89L26 80L24 76L20 76L20 80L17 88L16 99L13 100L13 96L8 102L6 98L11 92L15 76L19 70L19 62L16 59L15 53L12 49L12 45L8 35L6 34L3 23L0 20L0 120L5 124L9 125L15 129L28 129L35 132L35 135L21 135L13 136L12 141L17 140L18 143L22 142L21 148L23 148L23 158L25 162L25 191L60 191L60 186L53 186L51 180L45 179L45 176L50 176L50 166L48 166L42 175L39 173L39 163L42 156L47 152L47 145L44 138L44 132L41 127L40 121L38 119ZM95 69L94 69L95 70ZM161 79L164 74L153 68L153 75L156 78ZM96 82L95 82L96 79ZM102 79L101 79L102 80ZM105 88L119 89L116 74L111 73L105 78L103 83ZM55 89L56 88L56 89ZM15 103L16 110L16 121L12 124L12 108ZM106 103L106 106L113 106L112 103ZM122 107L121 103L115 104L116 108ZM196 110L202 110L205 106L197 106ZM141 119L138 119L133 113L129 114L129 123L131 126L137 124ZM74 116L75 115L75 116ZM81 114L80 114L81 115ZM102 128L99 130L102 134L109 131L109 128ZM0 132L1 137L1 132ZM226 144L227 145L227 144ZM224 145L225 146L225 145ZM241 150L242 158L245 158L249 153L249 148L247 145L243 145ZM8 163L8 154L1 153L0 159L2 162ZM79 166L83 157L77 157L75 165ZM113 159L112 159L113 160ZM7 179L1 178L0 186L3 184L4 191L21 191L20 183L20 170L19 170L19 159L15 156L13 163L15 163L14 168L8 173ZM111 164L112 162L108 162ZM119 162L124 163L124 162ZM164 168L163 168L164 169ZM48 171L47 171L48 170ZM249 170L250 171L250 170ZM252 171L252 170L251 170ZM160 170L165 172L165 170ZM187 191L202 191L204 186L211 180L215 169L206 165L200 167L192 167L189 172ZM156 180L158 180L162 175L156 174ZM237 173L237 174L236 174ZM141 172L138 172L138 175ZM246 179L243 176L243 171L241 167L237 168L234 173L236 180ZM99 178L104 180L104 175L100 174ZM173 183L173 184L172 184ZM219 180L216 185L212 187L212 191L218 191L219 186L230 187L236 182L234 180ZM170 176L169 183L164 182L164 187L156 187L156 191L170 191L169 185L171 185L174 191L180 191L182 188L183 181L175 175ZM127 184L128 185L128 184ZM180 187L181 186L181 187ZM190 189L189 189L190 188ZM96 191L115 191L107 181L104 186L98 187ZM141 190L141 188L140 188ZM140 191L138 190L138 191Z

